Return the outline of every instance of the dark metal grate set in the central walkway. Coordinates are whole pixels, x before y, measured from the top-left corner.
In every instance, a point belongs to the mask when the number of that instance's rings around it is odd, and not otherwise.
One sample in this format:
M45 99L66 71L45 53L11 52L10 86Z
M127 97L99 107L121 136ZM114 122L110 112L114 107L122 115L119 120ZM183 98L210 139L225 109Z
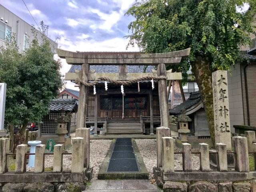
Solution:
M107 172L139 172L130 138L116 140Z

